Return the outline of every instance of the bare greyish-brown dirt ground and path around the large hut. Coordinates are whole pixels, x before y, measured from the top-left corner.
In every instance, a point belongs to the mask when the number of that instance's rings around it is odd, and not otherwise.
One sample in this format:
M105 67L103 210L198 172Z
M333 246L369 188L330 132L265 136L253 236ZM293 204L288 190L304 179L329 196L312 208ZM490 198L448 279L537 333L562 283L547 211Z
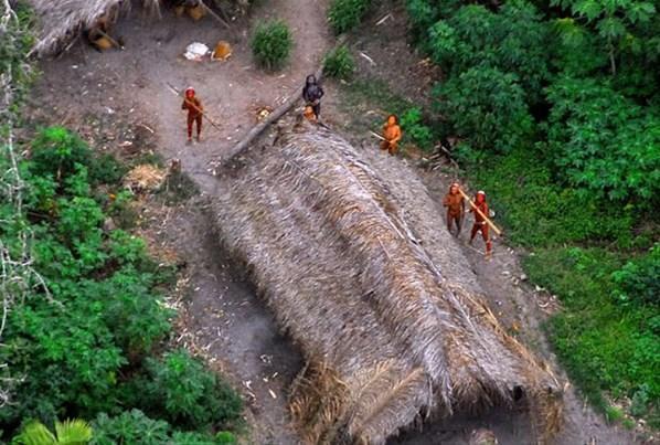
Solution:
M235 22L233 33L210 18L193 23L164 11L162 20L151 22L134 12L115 31L124 38L125 51L100 54L76 44L62 56L43 61L43 76L31 104L34 119L67 125L99 150L120 155L155 151L167 160L181 159L183 170L199 184L198 197L177 205L146 204L142 215L153 242L177 252L187 265L180 280L185 299L179 340L205 356L241 390L248 406L247 443L297 443L288 425L286 399L302 358L279 333L270 311L219 247L206 215L207 197L217 184L212 176L213 161L249 129L259 107L275 107L297 94L305 76L317 70L332 44L326 7L324 0L272 0L257 7L248 20ZM247 43L255 23L270 17L285 19L296 42L290 65L275 74L254 66ZM419 94L428 89L434 73L406 43L403 11L395 8L390 19L376 25L382 17L374 14L366 31L351 41L360 75L383 78L396 94L425 102L427 98ZM195 63L181 57L191 42L212 46L221 39L234 46L226 62ZM390 68L392 56L397 60L396 70ZM180 89L194 86L222 129L206 126L201 144L187 145L181 99L168 83ZM345 123L352 116L339 103L341 88L336 83L326 85L323 114L331 125L348 128ZM359 140L365 149L375 149L373 140L360 135L347 137ZM421 174L436 199L454 179L450 173ZM444 230L444 222L438 226ZM502 241L496 241L494 257L485 262L480 243L473 248L466 245L467 229L457 242L488 290L493 311L505 327L555 363L539 327L547 312L556 309L556 301L524 282L519 254ZM524 415L500 410L486 416L433 422L424 431L403 433L391 443L466 444L471 430L486 426L498 434L501 444L530 444L528 425ZM566 425L556 444L634 442L630 433L608 426L568 388Z

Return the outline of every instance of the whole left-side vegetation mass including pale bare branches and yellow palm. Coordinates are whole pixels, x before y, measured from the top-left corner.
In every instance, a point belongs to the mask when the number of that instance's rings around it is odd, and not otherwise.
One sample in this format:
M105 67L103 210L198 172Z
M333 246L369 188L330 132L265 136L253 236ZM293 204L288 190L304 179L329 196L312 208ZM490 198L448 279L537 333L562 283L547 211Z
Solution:
M168 347L175 268L130 233L127 167L61 127L15 141L33 76L17 12L0 23L0 442L235 443L239 395Z

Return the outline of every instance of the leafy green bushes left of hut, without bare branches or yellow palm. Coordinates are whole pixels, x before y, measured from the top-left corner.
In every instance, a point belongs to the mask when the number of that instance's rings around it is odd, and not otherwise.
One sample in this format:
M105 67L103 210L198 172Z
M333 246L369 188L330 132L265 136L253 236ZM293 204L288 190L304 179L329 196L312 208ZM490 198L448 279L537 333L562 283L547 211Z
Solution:
M173 312L158 290L171 279L171 267L151 261L142 240L102 229L108 213L119 212L131 197L117 193L110 202L93 189L88 172L114 161L99 161L61 128L41 133L32 147L34 156L20 166L25 213L3 225L0 241L11 246L18 231L30 226L33 265L50 294L35 286L7 319L0 362L25 378L0 411L0 428L11 433L25 418L50 424L134 406L146 406L155 418L181 420L184 427L234 421L241 399L201 363L187 361L183 352L166 354L162 363L150 358L171 331ZM98 178L116 180L113 173ZM9 209L2 204L0 212ZM155 443L214 443L203 434L177 437Z

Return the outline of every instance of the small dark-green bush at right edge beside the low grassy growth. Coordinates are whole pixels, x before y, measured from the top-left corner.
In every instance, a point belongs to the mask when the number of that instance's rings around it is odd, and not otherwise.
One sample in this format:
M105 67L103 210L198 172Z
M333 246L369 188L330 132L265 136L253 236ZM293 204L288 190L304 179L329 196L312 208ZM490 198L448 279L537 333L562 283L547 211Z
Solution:
M611 275L615 283L613 296L619 301L660 306L660 244L647 255L628 261ZM653 321L653 320L650 320ZM660 319L654 320L660 335Z

